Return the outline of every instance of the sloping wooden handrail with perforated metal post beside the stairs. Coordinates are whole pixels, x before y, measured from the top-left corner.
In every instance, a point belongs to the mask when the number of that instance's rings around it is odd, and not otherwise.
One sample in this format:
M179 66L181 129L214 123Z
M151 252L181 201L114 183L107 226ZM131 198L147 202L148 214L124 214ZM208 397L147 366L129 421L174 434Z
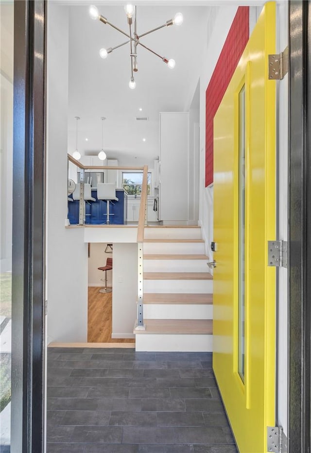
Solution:
M137 326L135 330L145 330L144 325L144 304L143 304L143 240L144 229L148 224L148 166L143 169L142 187L139 206L139 218L137 229L137 245L138 245L138 291L137 291Z

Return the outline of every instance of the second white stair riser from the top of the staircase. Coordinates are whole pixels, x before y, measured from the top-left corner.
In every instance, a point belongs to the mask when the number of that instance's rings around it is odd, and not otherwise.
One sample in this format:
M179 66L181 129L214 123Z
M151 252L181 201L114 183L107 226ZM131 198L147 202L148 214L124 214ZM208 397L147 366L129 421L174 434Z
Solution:
M205 254L204 242L144 242L144 253L168 255L174 254Z

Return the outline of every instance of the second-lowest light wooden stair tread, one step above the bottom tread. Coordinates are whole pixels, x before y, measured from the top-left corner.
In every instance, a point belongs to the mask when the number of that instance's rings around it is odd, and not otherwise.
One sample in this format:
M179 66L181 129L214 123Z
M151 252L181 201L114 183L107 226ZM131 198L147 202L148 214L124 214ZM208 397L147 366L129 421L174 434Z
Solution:
M144 293L144 303L210 305L213 303L213 295L193 293Z

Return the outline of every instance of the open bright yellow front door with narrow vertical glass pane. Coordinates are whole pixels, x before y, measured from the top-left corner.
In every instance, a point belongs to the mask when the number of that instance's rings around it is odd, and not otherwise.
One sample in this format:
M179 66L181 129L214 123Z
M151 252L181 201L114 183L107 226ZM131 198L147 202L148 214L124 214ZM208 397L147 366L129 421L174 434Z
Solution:
M275 425L276 6L266 3L214 119L213 368L240 453Z

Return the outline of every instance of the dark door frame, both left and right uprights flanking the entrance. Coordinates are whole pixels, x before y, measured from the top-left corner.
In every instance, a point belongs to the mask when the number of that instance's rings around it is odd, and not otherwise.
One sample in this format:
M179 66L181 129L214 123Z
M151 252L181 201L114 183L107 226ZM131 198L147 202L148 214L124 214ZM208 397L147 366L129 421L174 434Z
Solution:
M291 453L311 447L310 6L310 1L289 2ZM45 35L45 1L15 1L12 453L44 451Z

